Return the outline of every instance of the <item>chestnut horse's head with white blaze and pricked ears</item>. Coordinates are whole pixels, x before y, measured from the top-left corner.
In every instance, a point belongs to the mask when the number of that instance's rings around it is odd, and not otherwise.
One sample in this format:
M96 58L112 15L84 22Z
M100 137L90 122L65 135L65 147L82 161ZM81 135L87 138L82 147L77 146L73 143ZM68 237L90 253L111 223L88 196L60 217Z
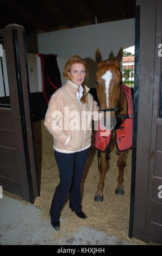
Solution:
M103 111L101 124L105 129L113 130L116 125L116 112L121 92L122 75L119 65L123 58L123 50L120 48L114 60L102 60L99 49L96 50L97 63L96 90L100 111ZM107 123L106 113L110 112L110 121ZM106 120L106 121L105 121Z

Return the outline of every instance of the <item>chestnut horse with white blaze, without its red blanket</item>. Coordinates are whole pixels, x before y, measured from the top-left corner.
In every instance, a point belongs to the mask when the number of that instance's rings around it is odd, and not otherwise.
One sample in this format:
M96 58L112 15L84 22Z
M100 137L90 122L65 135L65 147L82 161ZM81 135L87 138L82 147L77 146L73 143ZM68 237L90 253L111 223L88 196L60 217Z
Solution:
M115 146L115 129L119 129L120 125L126 120L126 118L132 118L133 115L127 115L127 99L121 90L122 87L122 75L119 70L119 65L122 61L123 50L120 48L117 56L114 60L102 60L101 52L97 49L95 54L95 60L97 63L98 71L96 73L96 90L98 97L99 111L103 111L103 118L101 123L103 124L105 130L109 129L111 131L111 141L107 151L100 151L101 163L100 163L100 178L98 183L98 190L95 194L95 201L103 201L103 188L105 174L108 171L110 164L109 159L107 160L107 154L110 153ZM126 86L125 86L126 87ZM130 89L128 89L130 90ZM132 98L132 95L131 95ZM132 103L133 106L133 103ZM132 108L133 109L133 108ZM110 122L109 127L105 123L105 115L109 111ZM133 124L133 120L132 120ZM132 129L132 127L130 127ZM97 131L96 131L97 132ZM96 135L95 135L96 136ZM129 136L131 137L131 136ZM107 144L106 144L107 145ZM129 149L132 147L131 146ZM118 184L115 193L123 194L123 174L124 168L127 163L128 150L119 152L119 159L117 160L117 167L119 168L119 177L117 179Z

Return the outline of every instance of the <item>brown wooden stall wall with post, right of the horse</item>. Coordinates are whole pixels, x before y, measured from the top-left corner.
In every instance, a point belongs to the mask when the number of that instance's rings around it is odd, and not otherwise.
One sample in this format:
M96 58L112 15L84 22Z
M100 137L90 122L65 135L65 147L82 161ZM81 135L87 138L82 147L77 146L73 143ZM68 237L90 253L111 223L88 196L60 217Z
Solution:
M140 5L139 106L133 236L162 243L161 0Z

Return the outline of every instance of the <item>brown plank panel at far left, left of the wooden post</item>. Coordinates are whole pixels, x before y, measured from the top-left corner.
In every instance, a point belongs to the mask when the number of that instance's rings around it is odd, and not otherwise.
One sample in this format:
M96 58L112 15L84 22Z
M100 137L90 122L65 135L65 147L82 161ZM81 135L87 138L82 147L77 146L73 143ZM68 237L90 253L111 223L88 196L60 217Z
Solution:
M0 108L0 117L0 184L3 190L21 195L13 112Z

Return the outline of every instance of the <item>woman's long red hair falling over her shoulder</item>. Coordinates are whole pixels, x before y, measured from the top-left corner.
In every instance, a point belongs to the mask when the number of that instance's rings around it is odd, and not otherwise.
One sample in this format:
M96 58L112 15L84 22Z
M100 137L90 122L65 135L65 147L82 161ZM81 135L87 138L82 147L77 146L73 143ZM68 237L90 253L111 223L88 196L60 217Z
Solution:
M82 84L82 87L83 87L83 96L82 98L80 99L81 102L84 104L85 101L86 101L86 90L85 90L85 81L88 77L88 64L86 63L86 61L82 58L80 58L78 55L74 55L72 57L70 57L66 64L65 64L65 67L64 67L64 71L63 71L63 75L66 79L70 80L70 76L68 76L68 72L70 72L71 70L71 66L73 64L76 64L76 63L82 63L84 66L85 66L85 70L86 70L86 76L85 76L85 80L84 80L84 83Z

